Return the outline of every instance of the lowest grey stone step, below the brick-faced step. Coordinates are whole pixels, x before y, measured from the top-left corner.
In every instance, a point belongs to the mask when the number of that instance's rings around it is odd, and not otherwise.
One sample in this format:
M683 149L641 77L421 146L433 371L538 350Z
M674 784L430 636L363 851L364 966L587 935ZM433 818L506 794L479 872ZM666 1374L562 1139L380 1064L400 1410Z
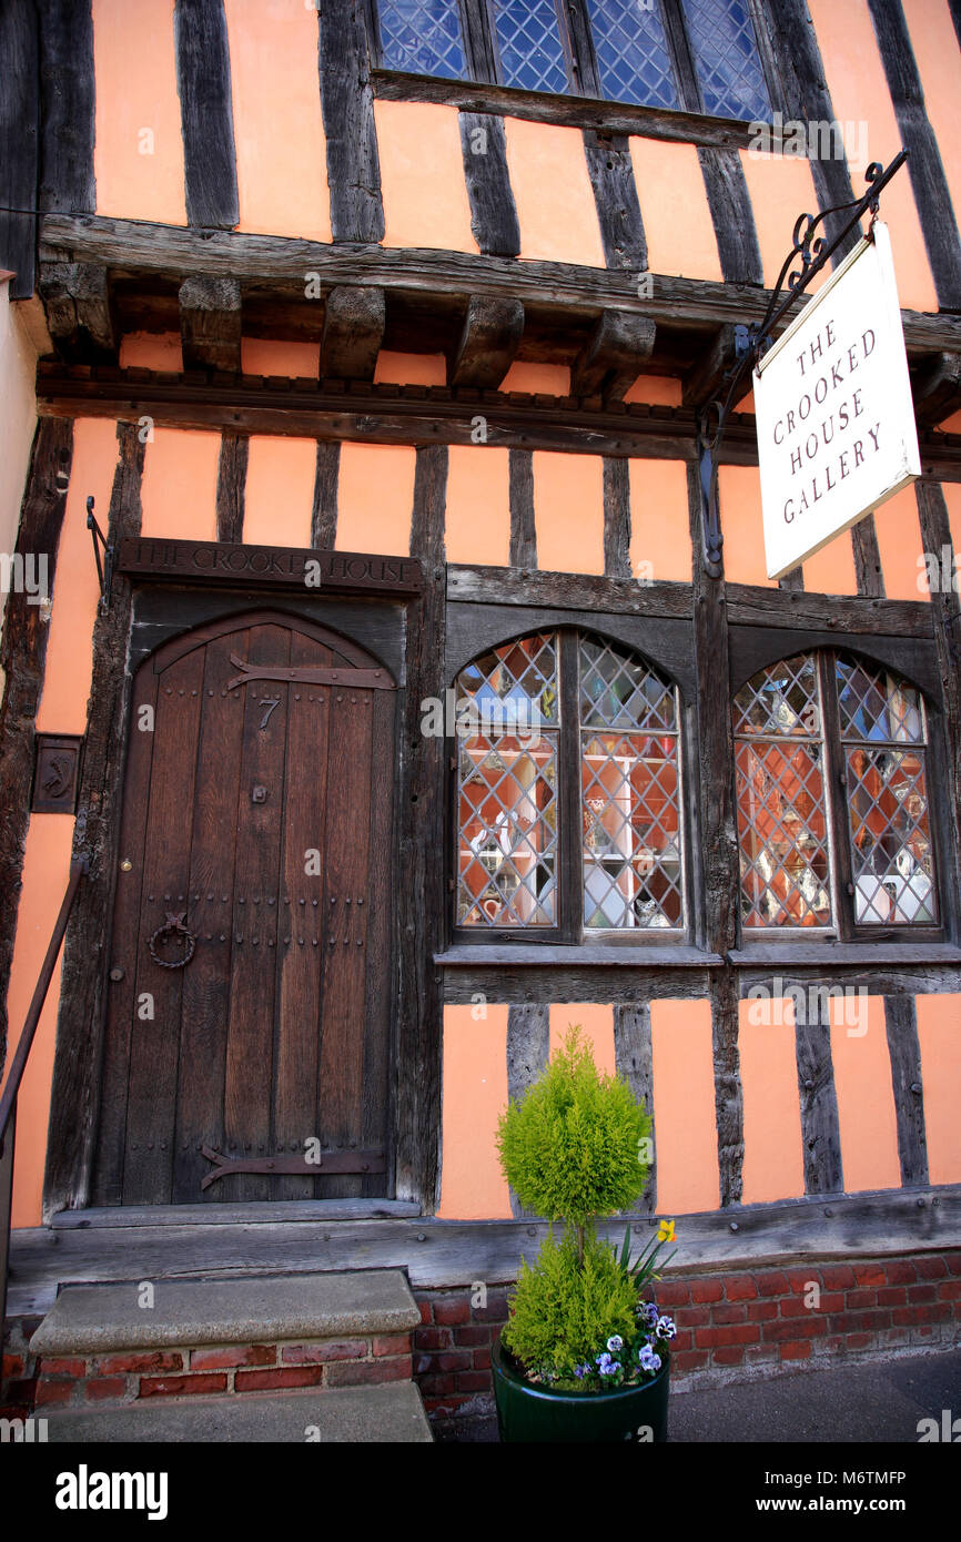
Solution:
M423 1443L433 1442L412 1382L268 1397L164 1399L156 1405L39 1411L57 1445L136 1443Z

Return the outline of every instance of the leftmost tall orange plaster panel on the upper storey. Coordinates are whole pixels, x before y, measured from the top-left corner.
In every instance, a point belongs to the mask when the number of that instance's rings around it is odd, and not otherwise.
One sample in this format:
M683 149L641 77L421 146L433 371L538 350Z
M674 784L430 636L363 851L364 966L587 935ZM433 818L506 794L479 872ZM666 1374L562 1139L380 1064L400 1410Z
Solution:
M94 0L93 17L97 214L185 225L173 0Z

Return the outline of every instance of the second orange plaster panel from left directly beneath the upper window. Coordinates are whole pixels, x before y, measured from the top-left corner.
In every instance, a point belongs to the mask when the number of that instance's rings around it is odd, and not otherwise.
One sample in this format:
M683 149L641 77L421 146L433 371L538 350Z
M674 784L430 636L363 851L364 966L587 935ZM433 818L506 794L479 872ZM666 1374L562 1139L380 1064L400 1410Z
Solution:
M582 131L520 117L506 117L504 131L521 258L603 268Z

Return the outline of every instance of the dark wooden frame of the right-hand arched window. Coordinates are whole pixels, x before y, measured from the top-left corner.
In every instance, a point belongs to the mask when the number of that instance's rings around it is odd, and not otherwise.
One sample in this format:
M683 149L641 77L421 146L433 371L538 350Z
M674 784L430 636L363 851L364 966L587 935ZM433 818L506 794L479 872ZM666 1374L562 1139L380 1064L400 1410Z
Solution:
M950 941L950 907L947 896L947 885L944 882L947 864L942 860L944 847L944 811L941 808L942 799L933 791L936 786L944 786L944 777L947 776L947 766L941 754L941 734L938 726L938 712L935 703L921 686L915 685L904 669L882 663L882 660L873 657L872 654L861 652L856 648L825 648L813 645L811 648L801 649L813 658L814 671L818 677L819 700L822 706L822 723L819 742L824 746L824 796L825 796L825 819L827 819L827 857L828 857L828 891L831 896L831 911L833 922L828 927L745 927L740 901L742 901L742 880L740 880L740 865L737 877L737 928L740 936L740 947L770 947L771 944L785 944L787 947L799 944L824 942L825 945L855 942L855 944L872 944L872 942L905 942L905 944L946 944ZM922 924L922 925L865 925L856 921L855 907L855 882L853 882L853 865L851 865L851 850L850 850L850 819L845 800L845 740L841 737L841 714L838 709L838 678L836 678L836 660L839 657L848 655L855 660L862 660L868 668L884 668L892 674L899 675L905 685L910 685L913 691L918 691L921 702L924 705L924 725L926 737L921 746L924 752L924 779L927 791L927 819L929 819L929 834L932 843L932 870L933 870L933 887L938 901L938 922ZM793 658L797 654L785 654L784 658ZM774 668L773 665L765 665L762 668ZM759 671L757 671L759 672ZM753 675L748 678L754 678ZM748 682L745 680L737 689L744 689ZM733 699L737 692L733 694ZM737 739L748 736L736 736ZM799 740L801 743L802 740ZM740 854L740 802L737 797L737 777L734 774L734 811L737 819L737 851Z

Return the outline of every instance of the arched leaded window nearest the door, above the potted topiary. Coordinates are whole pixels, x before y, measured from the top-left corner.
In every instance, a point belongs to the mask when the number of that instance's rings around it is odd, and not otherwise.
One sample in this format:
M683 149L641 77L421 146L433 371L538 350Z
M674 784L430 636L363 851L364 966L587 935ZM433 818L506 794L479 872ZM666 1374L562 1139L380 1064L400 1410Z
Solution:
M580 941L685 925L677 692L589 632L467 665L457 700L457 925Z

